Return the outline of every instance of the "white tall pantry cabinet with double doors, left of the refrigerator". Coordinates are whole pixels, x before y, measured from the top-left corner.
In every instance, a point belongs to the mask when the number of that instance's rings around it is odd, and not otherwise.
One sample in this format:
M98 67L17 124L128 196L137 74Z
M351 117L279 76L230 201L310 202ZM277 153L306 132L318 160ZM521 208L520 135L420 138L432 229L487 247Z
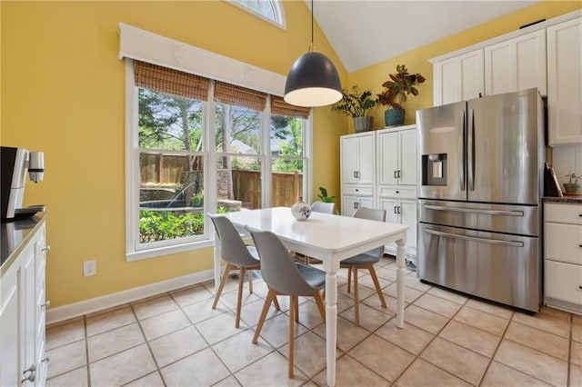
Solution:
M342 214L384 208L386 222L408 224L406 253L416 256L416 125L341 137ZM396 245L386 246L396 255Z

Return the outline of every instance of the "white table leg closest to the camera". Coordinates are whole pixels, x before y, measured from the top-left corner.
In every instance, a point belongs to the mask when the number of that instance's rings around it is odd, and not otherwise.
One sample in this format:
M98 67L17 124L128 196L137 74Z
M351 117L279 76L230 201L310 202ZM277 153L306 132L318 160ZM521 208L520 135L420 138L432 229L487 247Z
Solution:
M336 385L336 342L337 342L337 267L324 262L326 269L326 366L327 385Z

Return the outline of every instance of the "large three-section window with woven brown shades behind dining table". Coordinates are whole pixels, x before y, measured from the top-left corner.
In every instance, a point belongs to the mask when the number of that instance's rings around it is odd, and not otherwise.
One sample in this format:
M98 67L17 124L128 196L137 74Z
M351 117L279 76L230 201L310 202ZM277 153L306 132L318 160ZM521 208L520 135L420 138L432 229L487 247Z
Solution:
M128 260L210 245L207 212L307 196L308 109L159 65L127 66Z

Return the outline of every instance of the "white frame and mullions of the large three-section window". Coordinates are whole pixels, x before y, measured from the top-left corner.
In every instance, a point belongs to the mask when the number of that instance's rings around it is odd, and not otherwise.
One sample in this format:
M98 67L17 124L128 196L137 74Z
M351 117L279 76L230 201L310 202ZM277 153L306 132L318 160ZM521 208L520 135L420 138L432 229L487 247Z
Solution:
M138 146L138 87L135 86L135 75L133 60L126 56L125 63L125 259L128 262L138 261L147 258L155 258L173 253L184 253L214 245L214 232L212 223L205 219L205 233L196 235L197 241L185 241L183 239L161 243L166 245L147 246L139 243L139 186L140 186L140 166ZM226 62L236 62L225 58ZM236 64L238 64L236 62ZM157 63L157 65L164 65ZM168 65L168 67L172 67ZM253 88L252 84L241 84L248 88ZM204 174L205 174L205 212L216 212L216 160L219 152L216 152L215 138L215 82L211 82L208 101L203 102L203 130L204 135ZM271 109L270 98L267 98L266 108L260 112L260 136L261 149L259 154L261 160L262 185L262 207L271 206L272 191L272 163L274 158L271 155L270 146L270 123ZM313 117L312 113L305 120L304 134L304 197L310 200L313 181L312 167L312 138L313 138ZM213 150L213 151L211 151ZM212 165L212 166L211 166ZM189 238L186 238L189 239Z

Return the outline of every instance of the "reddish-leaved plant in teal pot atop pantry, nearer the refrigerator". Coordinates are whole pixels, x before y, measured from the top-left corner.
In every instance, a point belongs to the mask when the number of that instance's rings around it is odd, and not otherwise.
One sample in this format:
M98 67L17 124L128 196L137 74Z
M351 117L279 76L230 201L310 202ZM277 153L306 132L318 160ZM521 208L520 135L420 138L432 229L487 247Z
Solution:
M396 74L390 77L382 87L385 90L377 95L377 104L386 106L384 120L386 126L404 124L405 111L402 104L406 102L406 95L418 95L416 85L422 84L426 78L421 74L409 74L406 65L396 65Z

